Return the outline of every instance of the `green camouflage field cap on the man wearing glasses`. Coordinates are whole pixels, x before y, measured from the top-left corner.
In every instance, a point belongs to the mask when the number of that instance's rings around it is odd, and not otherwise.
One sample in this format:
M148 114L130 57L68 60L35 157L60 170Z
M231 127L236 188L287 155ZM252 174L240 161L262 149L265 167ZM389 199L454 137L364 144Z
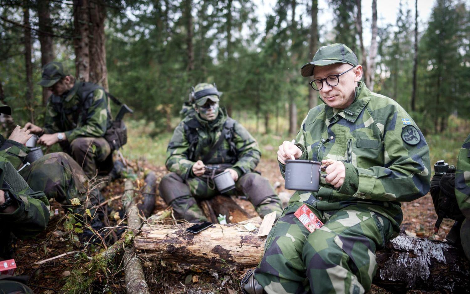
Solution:
M315 65L323 66L330 64L351 64L356 66L359 64L357 57L345 44L335 43L328 46L323 46L318 49L312 62L304 64L300 69L300 73L304 77L313 76L313 68Z

